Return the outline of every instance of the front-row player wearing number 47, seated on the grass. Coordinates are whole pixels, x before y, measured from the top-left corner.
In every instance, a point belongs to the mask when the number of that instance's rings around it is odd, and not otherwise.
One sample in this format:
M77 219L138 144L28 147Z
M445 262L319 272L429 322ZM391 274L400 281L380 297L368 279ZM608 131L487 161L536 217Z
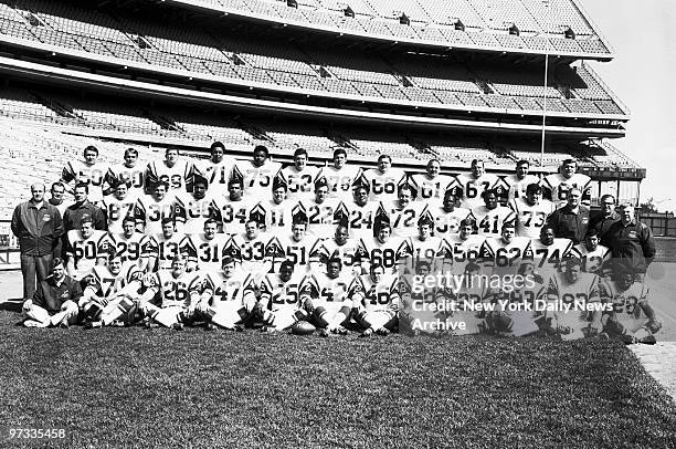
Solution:
M231 257L223 258L222 264L221 272L207 274L193 320L205 320L208 330L241 331L256 311L255 290L251 288L254 279L236 269Z

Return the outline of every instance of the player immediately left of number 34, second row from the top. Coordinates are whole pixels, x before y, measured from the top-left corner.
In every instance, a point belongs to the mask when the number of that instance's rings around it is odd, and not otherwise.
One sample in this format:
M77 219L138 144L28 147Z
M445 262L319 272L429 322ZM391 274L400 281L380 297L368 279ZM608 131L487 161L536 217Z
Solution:
M213 197L207 194L207 179L201 176L194 177L191 194L187 191L176 194L175 213L179 232L188 236L202 232L204 222L213 215Z

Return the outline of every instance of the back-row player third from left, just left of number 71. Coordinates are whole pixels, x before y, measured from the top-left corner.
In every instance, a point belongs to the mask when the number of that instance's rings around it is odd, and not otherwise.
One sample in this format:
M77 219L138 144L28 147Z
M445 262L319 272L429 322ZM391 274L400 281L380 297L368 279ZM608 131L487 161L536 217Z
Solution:
M152 191L154 186L162 182L172 194L192 191L194 171L190 160L180 159L177 148L167 148L165 160L154 160L146 167L146 189Z

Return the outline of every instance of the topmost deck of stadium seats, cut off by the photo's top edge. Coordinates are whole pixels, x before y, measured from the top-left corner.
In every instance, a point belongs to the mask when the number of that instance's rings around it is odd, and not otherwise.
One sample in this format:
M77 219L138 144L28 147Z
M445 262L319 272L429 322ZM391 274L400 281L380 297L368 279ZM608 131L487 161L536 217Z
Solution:
M610 60L574 0L166 0L341 35L431 48Z

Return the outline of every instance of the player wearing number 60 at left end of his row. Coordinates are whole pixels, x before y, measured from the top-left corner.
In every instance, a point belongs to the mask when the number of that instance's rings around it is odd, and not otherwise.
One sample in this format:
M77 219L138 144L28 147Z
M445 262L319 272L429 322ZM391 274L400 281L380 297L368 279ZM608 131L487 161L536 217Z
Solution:
M94 229L91 217L83 217L80 230L72 229L66 234L65 260L68 275L82 281L94 265L105 261L110 244L108 234Z

